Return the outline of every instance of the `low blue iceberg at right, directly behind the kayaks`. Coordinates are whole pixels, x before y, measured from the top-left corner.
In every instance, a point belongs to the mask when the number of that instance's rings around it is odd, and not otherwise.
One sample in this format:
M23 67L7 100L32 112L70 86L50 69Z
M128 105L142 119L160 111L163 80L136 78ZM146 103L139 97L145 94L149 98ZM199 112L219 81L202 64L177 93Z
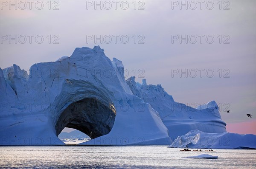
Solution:
M256 135L223 132L206 133L192 130L177 137L169 146L173 148L194 149L256 149Z

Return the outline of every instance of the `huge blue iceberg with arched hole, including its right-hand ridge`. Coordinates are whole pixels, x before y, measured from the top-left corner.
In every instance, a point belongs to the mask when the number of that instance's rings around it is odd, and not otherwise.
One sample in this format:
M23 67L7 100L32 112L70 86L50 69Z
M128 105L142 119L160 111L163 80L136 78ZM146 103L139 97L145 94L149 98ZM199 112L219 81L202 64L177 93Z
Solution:
M215 101L197 109L161 85L125 81L124 66L99 46L56 62L0 68L0 144L57 145L64 127L93 145L170 145L190 130L226 132Z

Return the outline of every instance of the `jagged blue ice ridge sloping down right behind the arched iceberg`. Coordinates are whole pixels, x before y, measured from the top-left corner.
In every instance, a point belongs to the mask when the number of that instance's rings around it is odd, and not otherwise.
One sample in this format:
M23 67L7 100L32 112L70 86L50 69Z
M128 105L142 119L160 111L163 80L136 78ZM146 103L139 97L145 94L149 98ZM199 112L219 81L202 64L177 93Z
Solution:
M226 132L226 124L221 120L215 101L195 109L175 102L161 85L147 85L145 79L139 84L135 82L134 77L127 79L126 82L135 96L150 104L160 114L173 141L177 136L184 135L190 130Z

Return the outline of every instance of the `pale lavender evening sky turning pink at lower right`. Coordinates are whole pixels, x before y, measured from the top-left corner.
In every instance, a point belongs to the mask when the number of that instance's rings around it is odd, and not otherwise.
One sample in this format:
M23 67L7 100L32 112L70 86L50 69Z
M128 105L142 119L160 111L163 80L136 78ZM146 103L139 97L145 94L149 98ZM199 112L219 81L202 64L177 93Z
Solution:
M126 79L161 84L187 105L215 100L227 131L256 134L256 1L0 3L2 69L100 45Z

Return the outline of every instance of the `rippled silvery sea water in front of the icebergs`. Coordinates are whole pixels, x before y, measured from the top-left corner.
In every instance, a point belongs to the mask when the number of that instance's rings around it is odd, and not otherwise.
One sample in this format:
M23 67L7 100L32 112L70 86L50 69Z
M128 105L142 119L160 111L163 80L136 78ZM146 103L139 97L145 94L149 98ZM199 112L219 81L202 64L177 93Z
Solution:
M210 154L218 159L184 159ZM182 152L166 146L0 146L0 168L255 169L256 150Z

